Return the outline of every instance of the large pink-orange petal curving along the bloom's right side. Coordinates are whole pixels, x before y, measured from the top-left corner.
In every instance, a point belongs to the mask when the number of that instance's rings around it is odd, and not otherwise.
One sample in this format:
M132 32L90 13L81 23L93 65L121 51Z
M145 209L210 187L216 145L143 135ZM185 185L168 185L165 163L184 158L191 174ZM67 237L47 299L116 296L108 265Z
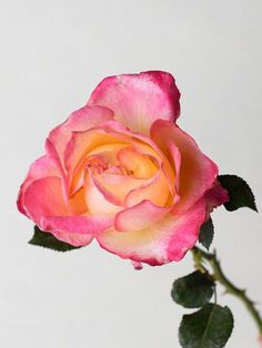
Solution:
M198 147L193 139L171 122L158 120L151 127L151 137L170 157L168 144L173 142L181 154L180 202L175 214L187 211L213 186L218 166ZM172 161L172 158L171 158Z

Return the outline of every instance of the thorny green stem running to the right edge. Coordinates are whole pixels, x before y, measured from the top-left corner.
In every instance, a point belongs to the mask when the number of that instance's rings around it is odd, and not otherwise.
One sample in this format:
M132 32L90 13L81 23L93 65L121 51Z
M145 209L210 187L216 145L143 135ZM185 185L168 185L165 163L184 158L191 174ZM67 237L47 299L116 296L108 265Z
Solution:
M246 307L248 311L254 319L260 336L262 337L262 318L260 317L259 311L256 310L254 303L246 296L245 289L240 289L235 285L231 283L231 280L224 275L220 262L216 258L215 252L213 254L205 253L204 250L194 247L192 249L193 252L193 258L195 262L195 267L200 269L201 272L205 270L205 268L202 265L202 260L209 262L210 266L213 269L213 279L221 283L224 287L226 293L232 294L236 296Z

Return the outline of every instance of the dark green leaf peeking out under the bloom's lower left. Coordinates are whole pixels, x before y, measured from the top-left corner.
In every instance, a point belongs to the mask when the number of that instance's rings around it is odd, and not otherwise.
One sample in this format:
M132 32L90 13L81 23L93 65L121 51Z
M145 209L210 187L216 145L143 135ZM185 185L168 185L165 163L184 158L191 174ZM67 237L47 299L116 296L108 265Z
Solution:
M34 226L33 237L28 243L31 245L42 246L57 252L69 252L79 248L57 239L51 233L43 232L38 226Z

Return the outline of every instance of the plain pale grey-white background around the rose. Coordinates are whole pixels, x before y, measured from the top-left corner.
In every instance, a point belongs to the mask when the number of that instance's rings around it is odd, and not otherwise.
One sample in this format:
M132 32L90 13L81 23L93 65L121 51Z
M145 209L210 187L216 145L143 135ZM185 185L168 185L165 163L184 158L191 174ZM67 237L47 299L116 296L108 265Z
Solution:
M262 204L261 0L1 1L0 347L173 348L185 311L170 298L180 264L144 267L95 243L66 254L27 244L33 224L16 208L48 132L111 74L157 69L182 92L179 124L221 173L244 177ZM226 274L262 301L261 215L213 214ZM255 348L256 329L229 295L229 348ZM262 305L259 305L262 310Z

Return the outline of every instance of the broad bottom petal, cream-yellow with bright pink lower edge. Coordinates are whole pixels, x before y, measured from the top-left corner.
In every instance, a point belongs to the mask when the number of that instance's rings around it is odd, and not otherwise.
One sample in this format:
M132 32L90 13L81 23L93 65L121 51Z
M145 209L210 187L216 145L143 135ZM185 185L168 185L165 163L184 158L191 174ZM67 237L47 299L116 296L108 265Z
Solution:
M205 201L199 201L180 216L168 214L142 231L118 232L110 228L97 236L101 247L134 262L152 266L180 260L198 240L205 218Z

